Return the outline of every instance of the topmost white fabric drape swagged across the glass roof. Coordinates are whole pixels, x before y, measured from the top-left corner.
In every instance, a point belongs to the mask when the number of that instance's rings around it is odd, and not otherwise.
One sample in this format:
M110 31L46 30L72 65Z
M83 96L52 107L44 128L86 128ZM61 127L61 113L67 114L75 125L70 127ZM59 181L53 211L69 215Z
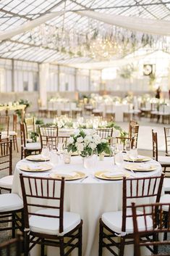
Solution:
M25 33L27 30L37 27L48 20L52 20L57 16L63 15L64 12L51 12L49 14L38 17L35 20L27 21L17 28L12 28L0 33L0 41L7 40L20 33ZM71 11L70 11L71 12ZM160 36L170 36L170 21L168 20L148 20L140 17L124 17L122 15L108 15L101 12L80 11L78 15L90 17L94 20L116 25L129 30L140 31Z

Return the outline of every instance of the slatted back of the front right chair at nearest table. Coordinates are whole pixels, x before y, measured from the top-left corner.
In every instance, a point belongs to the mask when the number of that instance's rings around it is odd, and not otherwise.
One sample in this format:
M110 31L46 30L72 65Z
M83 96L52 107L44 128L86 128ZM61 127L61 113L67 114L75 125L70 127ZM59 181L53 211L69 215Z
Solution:
M126 231L128 218L132 218L132 202L150 199L159 202L164 175L145 178L123 178L122 232Z

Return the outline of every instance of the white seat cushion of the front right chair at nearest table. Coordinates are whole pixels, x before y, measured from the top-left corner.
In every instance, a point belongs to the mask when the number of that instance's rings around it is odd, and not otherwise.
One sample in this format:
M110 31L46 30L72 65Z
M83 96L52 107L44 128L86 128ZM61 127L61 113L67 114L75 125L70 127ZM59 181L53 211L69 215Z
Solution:
M140 213L140 212L137 211L137 213ZM127 215L132 215L132 211L127 210ZM101 216L101 219L102 219L103 223L105 223L105 225L108 226L112 231L114 231L117 234L122 234L122 211L105 212ZM137 223L138 223L138 228L140 231L145 230L145 221L144 221L143 217L138 217ZM148 226L148 229L153 228L153 221L149 216L147 217L147 226ZM125 232L126 232L126 234L133 233L132 218L127 218L127 225L126 225Z

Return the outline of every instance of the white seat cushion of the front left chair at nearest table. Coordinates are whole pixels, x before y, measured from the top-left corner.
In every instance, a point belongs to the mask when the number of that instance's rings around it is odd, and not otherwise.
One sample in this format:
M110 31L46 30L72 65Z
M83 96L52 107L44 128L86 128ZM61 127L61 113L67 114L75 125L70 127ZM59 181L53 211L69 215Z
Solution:
M38 210L37 213L46 215L59 215L58 210L49 209ZM56 236L63 236L75 228L80 223L80 221L81 218L79 214L74 212L64 212L64 231L59 233L59 218L48 218L32 215L29 219L30 231Z

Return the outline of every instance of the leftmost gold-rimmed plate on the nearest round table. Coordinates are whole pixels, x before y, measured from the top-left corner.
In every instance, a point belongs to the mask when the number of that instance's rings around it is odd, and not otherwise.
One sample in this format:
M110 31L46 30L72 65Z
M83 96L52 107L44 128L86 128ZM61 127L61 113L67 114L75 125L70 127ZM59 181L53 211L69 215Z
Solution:
M48 164L33 165L33 166L31 166L30 164L20 165L20 170L24 170L25 172L30 172L30 173L45 172L46 170L51 170L51 169L52 169L52 166Z

